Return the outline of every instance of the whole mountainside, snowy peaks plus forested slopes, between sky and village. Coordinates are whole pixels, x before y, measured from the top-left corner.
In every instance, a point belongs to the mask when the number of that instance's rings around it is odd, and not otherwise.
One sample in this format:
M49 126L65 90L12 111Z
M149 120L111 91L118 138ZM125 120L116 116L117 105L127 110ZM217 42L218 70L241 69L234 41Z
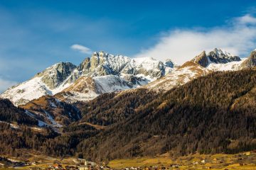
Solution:
M102 162L252 152L255 66L256 51L217 48L181 65L102 51L59 62L1 94L0 153Z

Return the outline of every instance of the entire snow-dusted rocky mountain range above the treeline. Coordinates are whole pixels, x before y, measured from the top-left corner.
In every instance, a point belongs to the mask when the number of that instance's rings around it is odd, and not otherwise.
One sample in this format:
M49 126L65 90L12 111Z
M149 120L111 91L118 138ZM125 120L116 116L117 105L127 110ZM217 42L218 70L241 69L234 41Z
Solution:
M1 94L1 98L9 98L16 106L55 94L68 103L88 101L100 94L144 88L146 84L149 89L166 89L165 86L170 89L210 72L238 70L254 64L255 60L250 60L250 57L241 60L216 48L208 55L202 52L181 66L171 60L161 62L151 57L133 59L101 51L85 58L78 67L70 62L54 64L32 79L9 88Z

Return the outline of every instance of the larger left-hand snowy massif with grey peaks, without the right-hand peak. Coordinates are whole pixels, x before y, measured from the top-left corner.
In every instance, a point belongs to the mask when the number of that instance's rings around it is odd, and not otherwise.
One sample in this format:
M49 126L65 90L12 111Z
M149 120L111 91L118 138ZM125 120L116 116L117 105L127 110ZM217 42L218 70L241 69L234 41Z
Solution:
M9 98L18 106L41 96L63 91L66 100L74 99L68 100L70 102L86 101L102 93L147 84L172 72L173 65L171 62L164 64L149 57L134 59L103 51L93 52L78 67L70 62L53 64L32 79L8 89L1 97ZM80 79L81 77L84 78Z

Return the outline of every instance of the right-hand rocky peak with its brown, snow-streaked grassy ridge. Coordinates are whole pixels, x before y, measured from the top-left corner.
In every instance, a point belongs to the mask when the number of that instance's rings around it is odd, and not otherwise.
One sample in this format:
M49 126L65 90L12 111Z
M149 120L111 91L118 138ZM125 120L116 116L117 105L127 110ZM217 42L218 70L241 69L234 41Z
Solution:
M235 71L247 68L242 67L242 63L249 60L249 58L241 60L240 57L230 55L230 53L216 48L210 51L208 55L203 51L200 55L197 55L191 61L185 62L181 67L165 77L152 81L141 88L154 91L168 91L211 72Z

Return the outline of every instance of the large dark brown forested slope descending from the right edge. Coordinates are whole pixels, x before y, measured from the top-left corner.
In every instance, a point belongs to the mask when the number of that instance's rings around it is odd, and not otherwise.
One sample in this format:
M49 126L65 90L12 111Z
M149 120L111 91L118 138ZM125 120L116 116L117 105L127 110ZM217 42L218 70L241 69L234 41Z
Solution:
M255 84L255 70L199 77L134 108L127 119L80 142L78 152L93 159L116 159L166 152L231 153L256 149ZM132 98L124 101L129 99ZM105 112L110 111L110 118L112 109L127 113L125 106L107 106L110 108ZM84 118L95 111L85 110Z

